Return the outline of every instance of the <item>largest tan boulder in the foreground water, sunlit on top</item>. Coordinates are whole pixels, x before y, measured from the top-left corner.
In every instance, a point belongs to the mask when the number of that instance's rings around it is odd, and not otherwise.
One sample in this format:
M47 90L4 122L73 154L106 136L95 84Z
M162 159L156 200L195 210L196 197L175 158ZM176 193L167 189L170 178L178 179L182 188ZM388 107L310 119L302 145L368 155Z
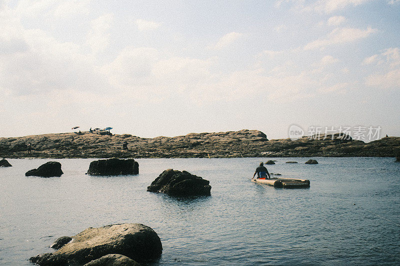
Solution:
M157 259L162 253L158 235L141 224L117 224L88 228L72 237L53 253L31 257L30 262L41 266L83 265L105 255L119 254L137 262Z

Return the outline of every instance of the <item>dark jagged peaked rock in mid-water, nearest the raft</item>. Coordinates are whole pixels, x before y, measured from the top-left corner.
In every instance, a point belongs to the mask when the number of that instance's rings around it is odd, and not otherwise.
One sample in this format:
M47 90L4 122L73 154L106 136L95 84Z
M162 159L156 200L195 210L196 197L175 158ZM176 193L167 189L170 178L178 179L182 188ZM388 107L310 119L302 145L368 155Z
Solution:
M162 172L147 191L165 193L170 196L209 196L209 181L186 171L167 169Z

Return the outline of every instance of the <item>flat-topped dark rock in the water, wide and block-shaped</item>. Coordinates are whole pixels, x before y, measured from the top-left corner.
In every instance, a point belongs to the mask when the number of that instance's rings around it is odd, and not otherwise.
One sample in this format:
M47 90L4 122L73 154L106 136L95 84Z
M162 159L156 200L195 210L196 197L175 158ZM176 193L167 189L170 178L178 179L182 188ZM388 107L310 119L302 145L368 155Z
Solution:
M90 163L87 174L93 176L137 175L139 164L133 159L97 160Z

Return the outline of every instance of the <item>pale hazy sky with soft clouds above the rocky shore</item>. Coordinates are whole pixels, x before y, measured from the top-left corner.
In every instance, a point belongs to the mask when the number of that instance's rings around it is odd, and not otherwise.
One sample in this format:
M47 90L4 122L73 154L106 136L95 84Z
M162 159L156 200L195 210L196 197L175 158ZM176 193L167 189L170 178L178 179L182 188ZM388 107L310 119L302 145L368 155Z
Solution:
M400 136L399 33L400 0L0 0L0 137Z

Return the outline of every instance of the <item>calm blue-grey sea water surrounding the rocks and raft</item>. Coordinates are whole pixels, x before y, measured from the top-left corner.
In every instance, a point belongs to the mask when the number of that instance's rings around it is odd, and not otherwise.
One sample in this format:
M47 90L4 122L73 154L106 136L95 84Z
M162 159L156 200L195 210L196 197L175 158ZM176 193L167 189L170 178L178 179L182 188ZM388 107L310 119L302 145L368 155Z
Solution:
M58 237L88 227L141 223L163 253L154 265L398 265L400 163L393 158L274 158L269 172L309 189L250 182L266 158L138 159L137 176L84 175L93 159L60 159L60 178L25 177L50 161L0 168L0 264L30 265ZM54 161L54 160L53 160ZM285 164L298 161L298 164ZM146 192L165 169L210 181L211 197Z

